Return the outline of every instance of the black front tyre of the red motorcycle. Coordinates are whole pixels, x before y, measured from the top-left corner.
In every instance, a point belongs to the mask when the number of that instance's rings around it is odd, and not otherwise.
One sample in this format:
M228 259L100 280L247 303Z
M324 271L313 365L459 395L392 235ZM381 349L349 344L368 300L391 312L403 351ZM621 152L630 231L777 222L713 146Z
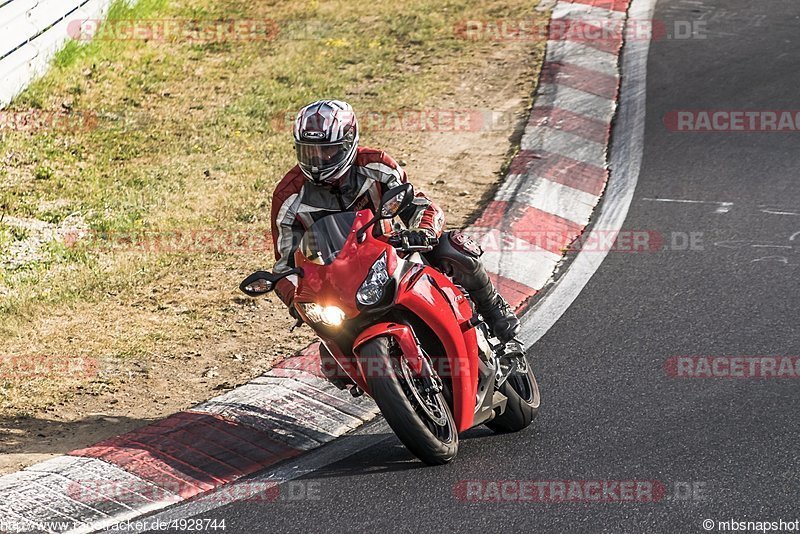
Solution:
M400 441L414 456L428 465L442 465L455 458L458 452L458 429L453 414L442 393L432 399L445 419L438 425L426 415L419 402L410 393L409 385L398 368L400 358L390 355L389 338L378 337L367 341L359 350L359 361L367 370L379 369L381 372L366 372L370 394L381 414L389 423ZM373 376L373 375L380 376Z

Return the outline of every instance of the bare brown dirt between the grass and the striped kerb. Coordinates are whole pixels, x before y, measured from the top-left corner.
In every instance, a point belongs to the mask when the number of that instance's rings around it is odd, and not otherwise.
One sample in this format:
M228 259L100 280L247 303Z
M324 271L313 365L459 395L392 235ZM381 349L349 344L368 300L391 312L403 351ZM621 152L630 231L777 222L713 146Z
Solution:
M531 43L488 44L482 55L464 66L461 82L434 102L440 109L475 111L494 118L477 131L375 131L364 135L363 144L380 147L404 164L411 182L445 210L448 228L463 226L491 198L510 159L528 114L541 53L542 47ZM91 314L76 306L69 316L52 317L49 327L58 330L60 338L66 334L73 340L72 346L64 348L73 354L113 352L109 340L120 332L152 340L145 346L156 352L150 354L146 367L126 366L124 359L113 366L100 362L96 380L68 401L33 411L28 417L0 419L0 473L189 408L247 382L309 343L313 337L307 327L288 332L292 321L276 297L250 300L236 294L239 280L249 274L254 261L233 259L224 268L207 272L202 281L182 280L175 272L152 283L146 296L109 295L100 304L108 308L107 315L93 305ZM176 299L176 292L185 295ZM126 306L135 310L135 317L119 313L120 299L128 299ZM225 304L220 306L220 302ZM165 340L159 336L169 336L165 315L158 313L164 310L172 312L170 321L199 315L202 324L213 326L201 327L190 340L174 340L191 350L160 356L157 347ZM86 324L84 316L108 320ZM86 346L82 336L86 329L107 333L92 336L105 341ZM43 333L39 328L18 344L29 344L35 352L47 339L46 329ZM24 389L24 384L17 387Z

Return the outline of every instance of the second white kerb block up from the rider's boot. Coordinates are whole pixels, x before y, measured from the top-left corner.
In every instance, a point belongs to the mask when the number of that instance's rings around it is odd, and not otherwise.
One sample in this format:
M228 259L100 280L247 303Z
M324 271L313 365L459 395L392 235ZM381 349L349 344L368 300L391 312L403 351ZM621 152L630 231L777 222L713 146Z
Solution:
M586 226L600 197L546 178L513 175L497 191L495 200L527 204Z

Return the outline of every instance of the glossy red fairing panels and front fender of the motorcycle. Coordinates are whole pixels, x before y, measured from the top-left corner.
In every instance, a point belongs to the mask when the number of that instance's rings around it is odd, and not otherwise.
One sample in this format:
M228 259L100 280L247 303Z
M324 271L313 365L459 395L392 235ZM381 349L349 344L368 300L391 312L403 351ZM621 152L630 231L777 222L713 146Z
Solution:
M295 264L303 269L303 276L295 293L295 302L316 302L321 306L338 306L348 319L360 315L356 305L356 293L375 261L386 252L387 270L393 275L398 267L397 253L392 246L372 235L365 234L363 242L357 242L357 231L373 217L371 210L356 214L356 220L336 260L329 265L318 265L308 261L298 250ZM409 270L400 280L395 307L405 308L418 316L436 334L446 354L430 354L436 371L450 376L453 385L453 417L459 432L472 427L478 388L478 343L475 330L467 326L472 318L472 306L449 278L437 270L425 266ZM301 311L302 313L302 311ZM406 325L381 322L360 332L353 343L354 349L367 340L379 336L392 336L408 361L412 370L420 372L417 339ZM369 389L353 355L343 354L341 347L328 336L320 333L334 358L350 374L351 378L367 393ZM354 350L354 352L356 352ZM439 360L437 362L437 360ZM441 361L449 368L443 369ZM359 369L359 373L353 372Z

